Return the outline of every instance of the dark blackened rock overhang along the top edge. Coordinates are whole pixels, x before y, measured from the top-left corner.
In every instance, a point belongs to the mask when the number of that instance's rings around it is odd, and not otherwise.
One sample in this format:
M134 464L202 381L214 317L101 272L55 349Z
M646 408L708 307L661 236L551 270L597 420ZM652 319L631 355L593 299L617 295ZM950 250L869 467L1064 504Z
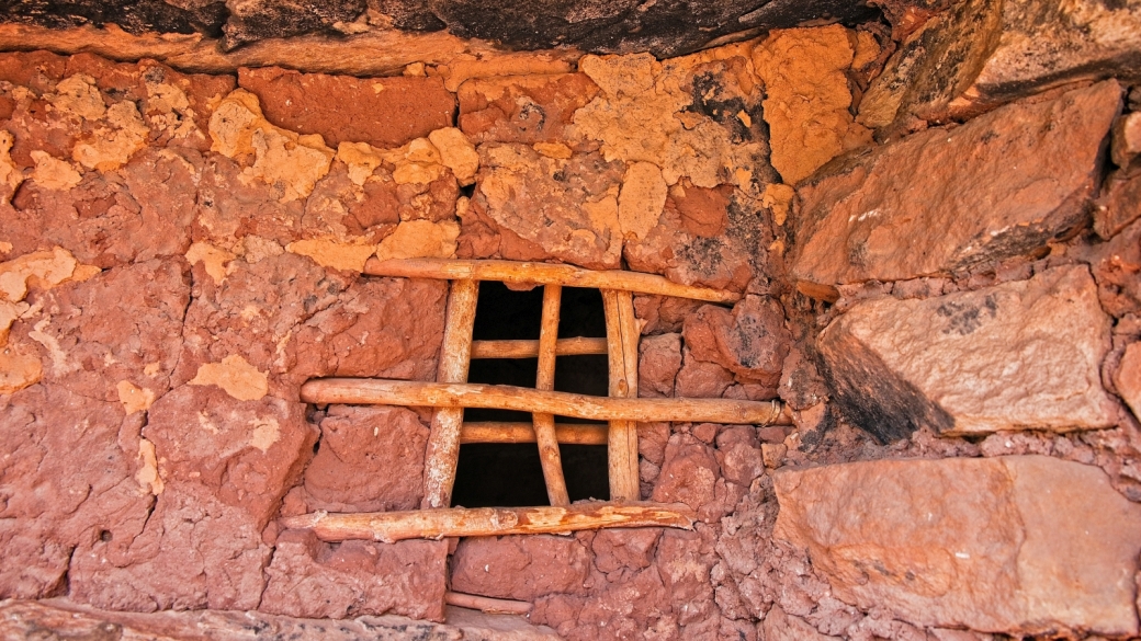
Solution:
M202 33L221 38L225 49L268 38L390 25L446 29L512 49L576 46L658 57L743 32L855 23L877 14L863 0L0 0L0 22Z

